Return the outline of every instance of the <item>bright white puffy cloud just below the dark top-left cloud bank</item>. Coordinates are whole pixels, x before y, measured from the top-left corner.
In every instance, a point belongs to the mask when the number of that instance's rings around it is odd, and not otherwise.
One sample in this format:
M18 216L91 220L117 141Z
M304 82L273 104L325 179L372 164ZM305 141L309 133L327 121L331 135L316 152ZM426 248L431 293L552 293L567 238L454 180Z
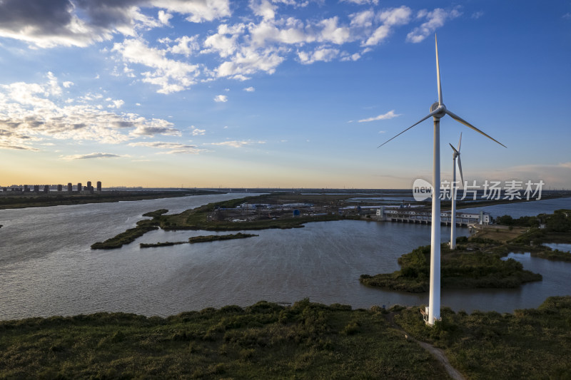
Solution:
M186 90L195 83L198 66L166 58L166 50L149 48L143 41L131 38L115 43L113 51L121 54L129 63L140 63L154 71L142 73L143 82L159 86L158 93L173 93Z

